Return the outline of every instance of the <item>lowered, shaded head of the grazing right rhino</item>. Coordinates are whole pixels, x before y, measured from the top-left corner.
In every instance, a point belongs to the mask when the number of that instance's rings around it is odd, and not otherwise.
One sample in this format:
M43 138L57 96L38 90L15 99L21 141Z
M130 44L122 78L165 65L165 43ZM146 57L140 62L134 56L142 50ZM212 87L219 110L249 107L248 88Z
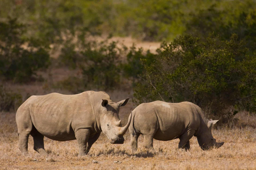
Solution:
M212 136L212 125L217 123L218 121L219 120L207 120L207 126L202 127L201 134L197 136L199 146L203 150L208 150L213 147L219 148L224 144L224 142L216 142L216 139L214 139Z

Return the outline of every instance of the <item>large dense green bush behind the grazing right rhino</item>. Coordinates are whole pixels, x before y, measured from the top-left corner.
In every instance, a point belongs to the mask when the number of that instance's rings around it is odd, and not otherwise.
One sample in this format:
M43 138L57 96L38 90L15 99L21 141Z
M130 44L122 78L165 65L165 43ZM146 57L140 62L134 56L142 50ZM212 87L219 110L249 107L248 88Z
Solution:
M144 64L134 96L139 103L192 101L214 114L230 106L256 111L256 59L247 52L236 35L181 36Z

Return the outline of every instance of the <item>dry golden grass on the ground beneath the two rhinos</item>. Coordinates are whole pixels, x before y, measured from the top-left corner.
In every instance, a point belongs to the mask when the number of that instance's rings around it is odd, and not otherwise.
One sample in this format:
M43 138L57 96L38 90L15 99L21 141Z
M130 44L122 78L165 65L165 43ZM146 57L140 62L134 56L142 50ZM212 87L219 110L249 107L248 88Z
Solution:
M29 137L29 157L23 157L18 149L15 113L0 116L0 169L256 169L256 130L250 126L214 129L214 137L225 144L210 151L201 150L193 137L190 151L178 149L179 140L155 140L157 153L153 154L143 149L140 137L138 152L132 154L126 133L123 145L111 145L102 134L85 157L77 157L75 140L58 142L47 138L49 157L42 157L33 150L33 139Z

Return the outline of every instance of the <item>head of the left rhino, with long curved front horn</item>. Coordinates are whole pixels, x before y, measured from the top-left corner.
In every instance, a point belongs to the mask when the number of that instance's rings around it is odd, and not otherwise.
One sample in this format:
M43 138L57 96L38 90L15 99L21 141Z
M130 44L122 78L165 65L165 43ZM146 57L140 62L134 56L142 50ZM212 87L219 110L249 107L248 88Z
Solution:
M110 140L110 143L124 143L123 135L131 123L131 115L127 124L121 127L121 120L119 119L118 113L119 107L125 106L128 100L129 98L115 103L109 99L102 99L101 106L103 107L103 111L100 117L100 126L102 132Z

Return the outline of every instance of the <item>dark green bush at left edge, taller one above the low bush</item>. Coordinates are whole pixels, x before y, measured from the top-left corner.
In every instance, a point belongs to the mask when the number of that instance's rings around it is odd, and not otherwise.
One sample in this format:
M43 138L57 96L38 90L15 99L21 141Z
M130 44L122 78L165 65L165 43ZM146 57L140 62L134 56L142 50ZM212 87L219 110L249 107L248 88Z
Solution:
M0 75L14 82L31 80L50 61L47 50L25 39L25 32L25 25L16 19L0 22Z

